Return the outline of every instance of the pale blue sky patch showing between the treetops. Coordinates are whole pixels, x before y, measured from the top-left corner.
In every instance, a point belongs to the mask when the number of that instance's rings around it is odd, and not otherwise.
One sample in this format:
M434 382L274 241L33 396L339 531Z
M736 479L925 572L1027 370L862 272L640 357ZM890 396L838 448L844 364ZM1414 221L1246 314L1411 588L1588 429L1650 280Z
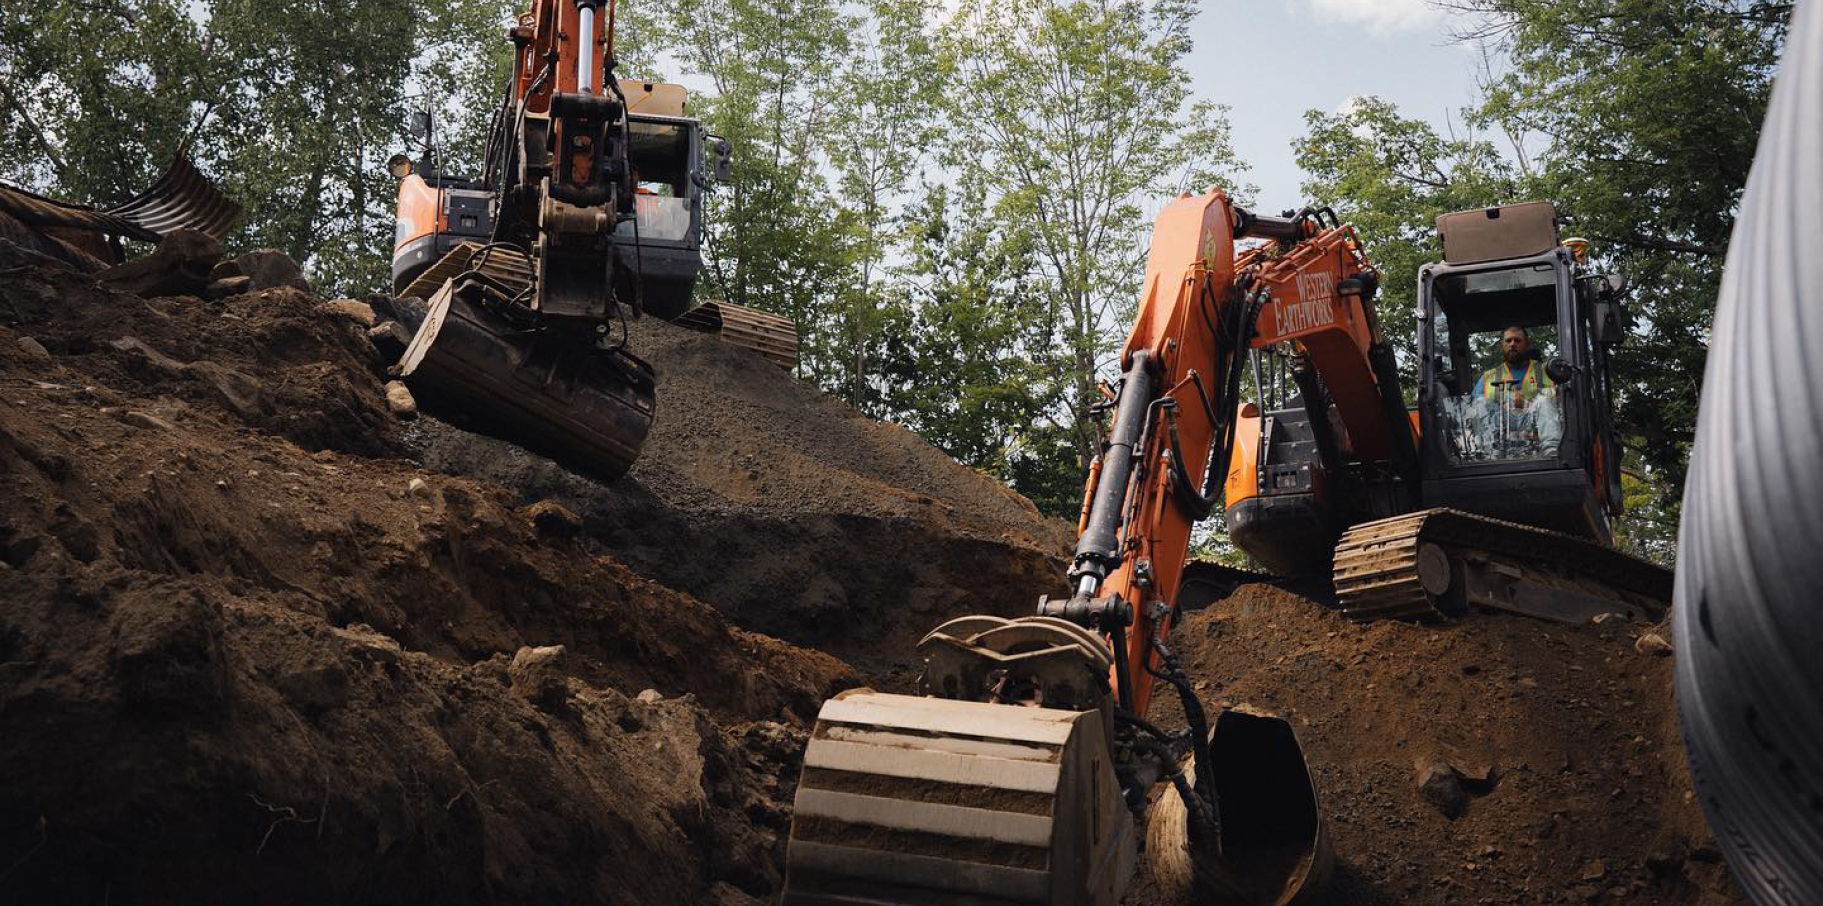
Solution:
M1449 38L1424 0L1203 0L1189 69L1198 97L1227 104L1234 149L1276 213L1305 199L1291 142L1303 111L1378 95L1444 131L1475 100L1480 53Z

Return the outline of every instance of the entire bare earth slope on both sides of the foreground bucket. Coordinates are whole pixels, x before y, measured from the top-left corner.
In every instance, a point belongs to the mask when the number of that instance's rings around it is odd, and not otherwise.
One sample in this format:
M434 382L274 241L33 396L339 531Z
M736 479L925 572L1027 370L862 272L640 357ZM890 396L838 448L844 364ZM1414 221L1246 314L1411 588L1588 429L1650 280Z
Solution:
M1023 613L1068 538L746 352L634 339L660 417L602 487L401 427L308 293L139 299L0 242L4 890L769 899L819 702ZM1641 629L1358 627L1249 585L1176 638L1207 702L1296 724L1331 902L1743 902ZM1471 775L1455 818L1435 764Z

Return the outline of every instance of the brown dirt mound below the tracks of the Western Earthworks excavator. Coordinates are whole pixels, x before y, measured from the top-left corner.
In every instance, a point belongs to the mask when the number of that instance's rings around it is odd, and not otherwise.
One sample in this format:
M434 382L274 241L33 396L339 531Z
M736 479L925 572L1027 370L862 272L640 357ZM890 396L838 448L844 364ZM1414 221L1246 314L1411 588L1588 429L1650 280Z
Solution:
M1243 585L1172 638L1207 707L1293 722L1334 833L1329 902L1745 904L1690 791L1672 660L1635 651L1643 631L1360 625Z

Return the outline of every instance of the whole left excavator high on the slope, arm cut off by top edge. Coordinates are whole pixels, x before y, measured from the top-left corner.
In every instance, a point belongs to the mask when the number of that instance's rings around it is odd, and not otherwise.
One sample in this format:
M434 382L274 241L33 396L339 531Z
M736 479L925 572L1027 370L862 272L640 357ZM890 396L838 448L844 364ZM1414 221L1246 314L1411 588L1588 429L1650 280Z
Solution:
M656 376L627 321L656 315L797 365L789 319L698 304L704 195L729 146L682 86L614 77L611 0L534 0L481 179L396 155L394 308L416 326L394 366L432 414L613 479L640 454ZM707 160L706 160L707 159Z

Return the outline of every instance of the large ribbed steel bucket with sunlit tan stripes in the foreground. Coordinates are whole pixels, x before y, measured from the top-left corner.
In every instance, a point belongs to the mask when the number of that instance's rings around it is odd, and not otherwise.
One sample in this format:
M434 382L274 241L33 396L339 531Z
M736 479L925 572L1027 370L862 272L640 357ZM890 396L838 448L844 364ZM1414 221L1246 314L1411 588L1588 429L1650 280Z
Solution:
M1136 860L1101 711L851 689L804 753L784 906L1114 906Z

